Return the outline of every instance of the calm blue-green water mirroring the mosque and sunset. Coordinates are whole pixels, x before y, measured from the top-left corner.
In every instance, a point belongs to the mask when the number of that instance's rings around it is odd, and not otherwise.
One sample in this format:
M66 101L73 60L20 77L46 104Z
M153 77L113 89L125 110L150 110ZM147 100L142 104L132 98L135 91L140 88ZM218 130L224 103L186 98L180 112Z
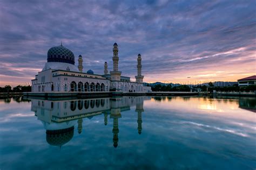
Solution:
M0 100L0 169L255 169L255 98Z

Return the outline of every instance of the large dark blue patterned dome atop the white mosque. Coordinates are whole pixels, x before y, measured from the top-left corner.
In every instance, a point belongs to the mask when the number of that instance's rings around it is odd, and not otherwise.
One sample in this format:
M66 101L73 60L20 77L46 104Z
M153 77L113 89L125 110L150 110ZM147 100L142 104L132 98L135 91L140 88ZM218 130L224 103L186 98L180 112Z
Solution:
M66 62L75 65L75 56L70 49L60 45L48 50L47 62Z

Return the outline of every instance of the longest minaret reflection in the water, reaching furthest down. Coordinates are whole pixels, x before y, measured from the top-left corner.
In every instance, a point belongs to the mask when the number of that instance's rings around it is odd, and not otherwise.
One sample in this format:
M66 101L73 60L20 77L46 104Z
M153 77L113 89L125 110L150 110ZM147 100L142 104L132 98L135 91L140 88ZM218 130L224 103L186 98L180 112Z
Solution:
M113 118L113 146L117 147L118 145L118 118L122 117L120 108L112 108L110 118Z

